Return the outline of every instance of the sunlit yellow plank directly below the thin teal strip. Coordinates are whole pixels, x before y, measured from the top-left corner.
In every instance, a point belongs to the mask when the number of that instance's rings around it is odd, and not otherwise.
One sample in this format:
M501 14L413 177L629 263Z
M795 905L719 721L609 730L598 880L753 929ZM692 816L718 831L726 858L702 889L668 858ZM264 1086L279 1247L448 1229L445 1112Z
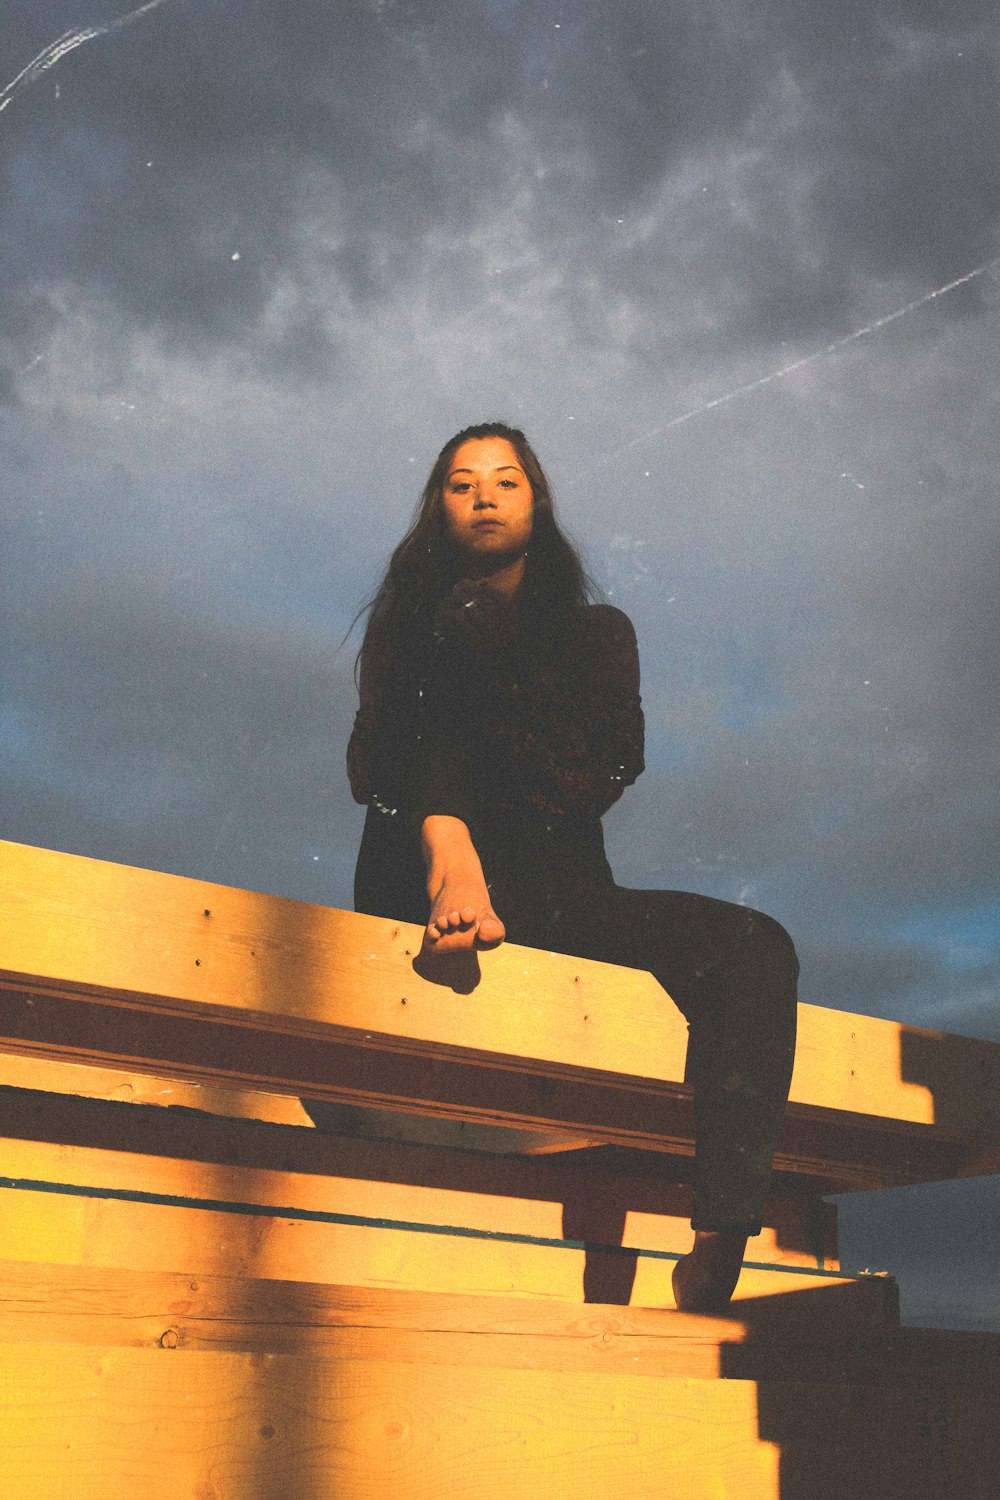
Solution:
M225 1194L225 1180L219 1184ZM436 1233L433 1226L406 1221L306 1216L264 1204L241 1210L238 1203L198 1206L39 1191L33 1185L0 1190L0 1257L24 1263L123 1268L144 1272L183 1270L195 1280L241 1275L280 1281L336 1282L360 1287L463 1292L474 1294L544 1298L582 1304L631 1302L673 1306L673 1260L636 1252L610 1254L579 1244L535 1236L495 1238L492 1233ZM228 1202L228 1200L226 1200ZM748 1264L736 1288L739 1299L795 1292L823 1308L844 1288L865 1317L873 1304L867 1287L835 1272L802 1266ZM871 1296L885 1298L883 1287ZM840 1316L840 1314L837 1314ZM879 1314L882 1316L882 1314Z

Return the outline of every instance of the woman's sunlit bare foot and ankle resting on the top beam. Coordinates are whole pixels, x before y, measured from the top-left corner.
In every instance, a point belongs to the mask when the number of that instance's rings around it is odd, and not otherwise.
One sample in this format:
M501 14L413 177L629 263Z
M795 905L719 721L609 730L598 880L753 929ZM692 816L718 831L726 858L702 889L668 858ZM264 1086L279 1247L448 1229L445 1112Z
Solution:
M496 948L507 930L490 903L468 826L459 818L424 818L420 837L430 900L424 948L432 952Z

